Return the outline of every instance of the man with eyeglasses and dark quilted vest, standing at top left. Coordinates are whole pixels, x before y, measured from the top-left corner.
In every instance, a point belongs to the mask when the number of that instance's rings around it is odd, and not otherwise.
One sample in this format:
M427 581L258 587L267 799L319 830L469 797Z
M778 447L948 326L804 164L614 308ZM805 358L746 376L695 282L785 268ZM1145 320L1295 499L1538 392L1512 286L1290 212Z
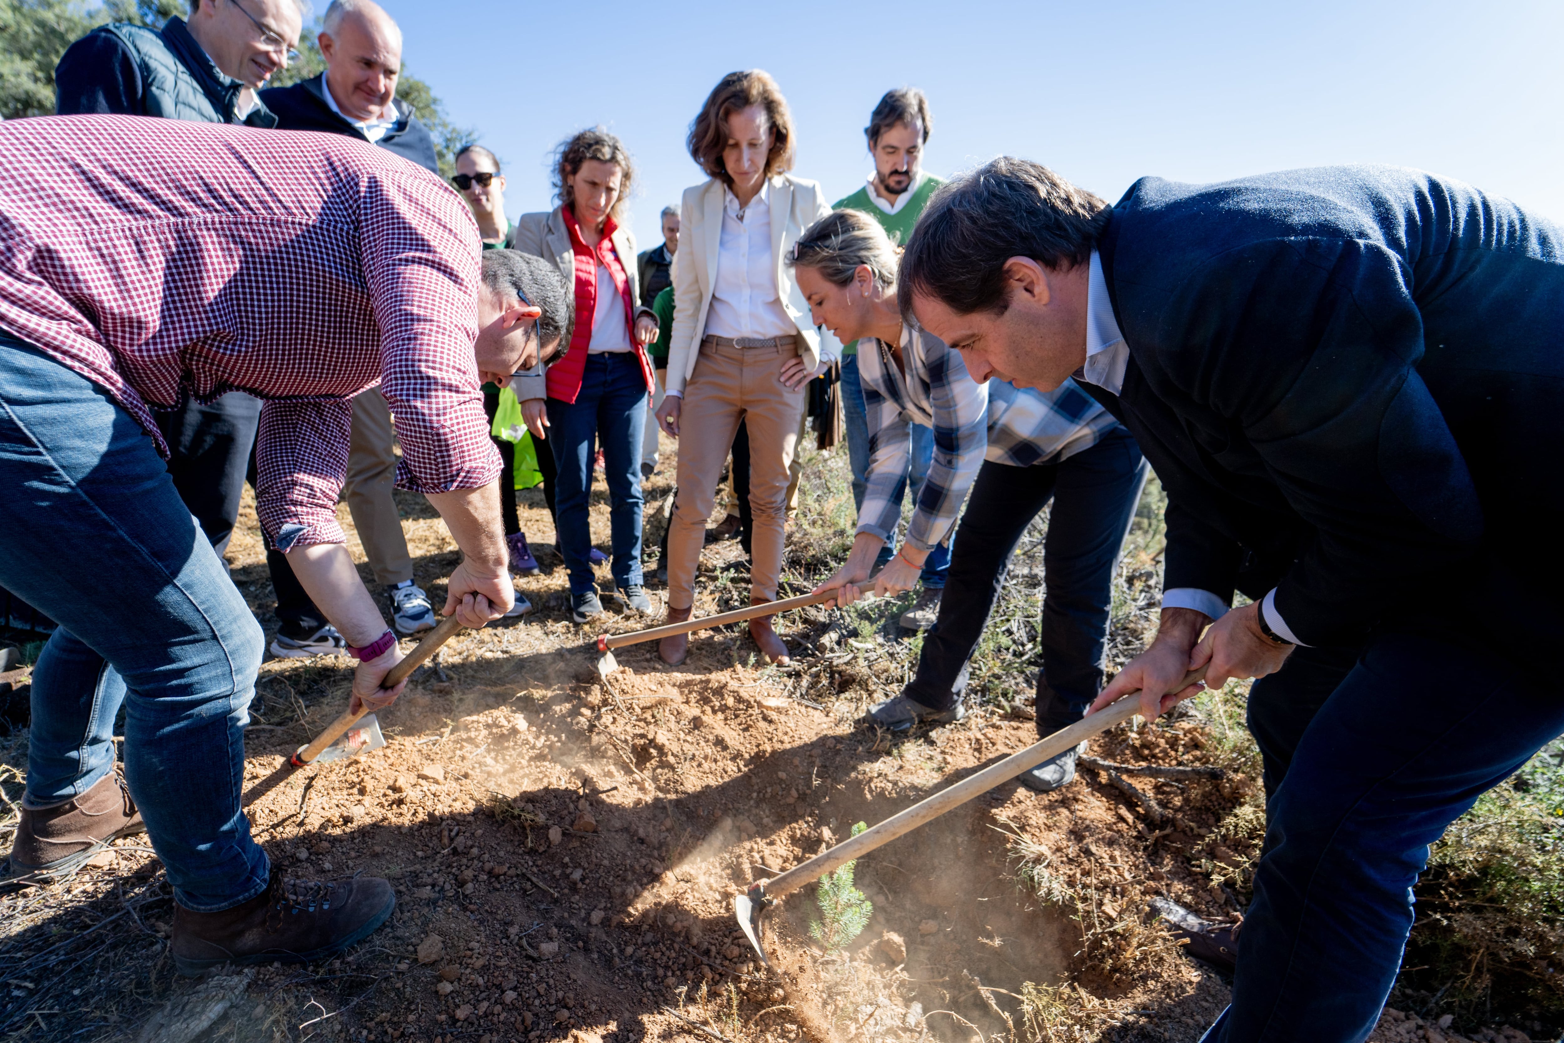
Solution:
M299 56L302 23L297 0L191 0L189 22L172 17L161 31L102 25L55 67L55 109L275 127L256 91ZM233 391L156 416L174 486L219 555L239 519L260 414L256 399Z

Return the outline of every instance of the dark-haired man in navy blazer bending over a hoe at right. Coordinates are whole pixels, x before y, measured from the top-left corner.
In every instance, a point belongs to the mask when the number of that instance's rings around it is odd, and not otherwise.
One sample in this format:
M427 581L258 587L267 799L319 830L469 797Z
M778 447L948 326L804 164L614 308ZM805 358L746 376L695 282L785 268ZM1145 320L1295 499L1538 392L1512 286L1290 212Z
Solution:
M1167 488L1162 625L1096 707L1261 679L1265 849L1209 1038L1367 1038L1428 844L1564 732L1550 658L1512 654L1564 632L1537 554L1564 235L1417 170L1142 178L1109 206L1001 158L931 202L899 285L976 380L1073 374Z

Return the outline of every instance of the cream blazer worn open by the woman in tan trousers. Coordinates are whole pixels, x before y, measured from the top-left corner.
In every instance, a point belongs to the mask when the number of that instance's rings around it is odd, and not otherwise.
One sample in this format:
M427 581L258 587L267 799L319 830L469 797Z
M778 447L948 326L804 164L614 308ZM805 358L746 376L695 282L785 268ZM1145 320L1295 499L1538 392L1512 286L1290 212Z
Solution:
M726 185L712 178L687 188L679 206L679 250L674 252L674 328L668 339L668 391L683 392L701 357L705 316L716 286L716 252L723 241L723 200ZM793 269L782 258L804 230L830 213L818 181L791 174L771 178L771 264L776 271L777 300L799 332L799 357L813 369L820 360L838 361L841 344L829 330L816 330L809 317Z

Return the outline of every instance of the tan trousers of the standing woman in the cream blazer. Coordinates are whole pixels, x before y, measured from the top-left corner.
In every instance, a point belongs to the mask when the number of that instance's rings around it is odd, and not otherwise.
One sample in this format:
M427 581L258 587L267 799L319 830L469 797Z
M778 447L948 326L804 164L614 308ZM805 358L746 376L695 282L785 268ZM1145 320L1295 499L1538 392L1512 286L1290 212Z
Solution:
M694 374L679 410L679 497L668 529L668 607L694 604L694 572L705 543L716 482L734 447L738 422L749 428L749 507L755 535L749 590L776 600L782 574L788 468L804 413L804 389L791 391L779 374L795 358L788 347L701 344Z

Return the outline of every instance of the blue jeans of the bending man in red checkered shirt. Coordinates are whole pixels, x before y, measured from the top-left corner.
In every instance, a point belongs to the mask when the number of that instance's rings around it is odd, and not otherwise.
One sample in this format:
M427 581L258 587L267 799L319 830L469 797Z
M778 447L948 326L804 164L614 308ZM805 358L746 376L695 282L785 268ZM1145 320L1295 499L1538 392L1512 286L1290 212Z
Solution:
M30 807L114 768L175 898L213 912L266 890L241 808L261 627L180 500L152 438L108 394L0 335L0 583L59 621L33 671Z

